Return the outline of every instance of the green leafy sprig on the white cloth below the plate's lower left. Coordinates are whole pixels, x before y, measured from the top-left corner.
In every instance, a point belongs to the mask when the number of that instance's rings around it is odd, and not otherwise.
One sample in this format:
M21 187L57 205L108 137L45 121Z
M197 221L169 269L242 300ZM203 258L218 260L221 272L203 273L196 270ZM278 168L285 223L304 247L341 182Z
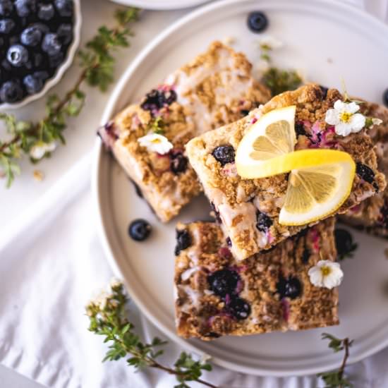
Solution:
M155 337L150 344L145 344L133 332L134 326L129 322L126 313L128 297L121 282L111 283L111 292L103 293L96 301L86 306L90 318L89 330L101 335L104 342L110 342L109 350L103 361L126 358L128 365L136 369L156 368L175 375L178 385L175 388L189 388L187 382L195 381L206 387L217 388L200 377L202 370L212 370L212 365L206 360L194 360L193 356L182 352L174 367L159 363L157 358L163 354L161 346L166 341Z

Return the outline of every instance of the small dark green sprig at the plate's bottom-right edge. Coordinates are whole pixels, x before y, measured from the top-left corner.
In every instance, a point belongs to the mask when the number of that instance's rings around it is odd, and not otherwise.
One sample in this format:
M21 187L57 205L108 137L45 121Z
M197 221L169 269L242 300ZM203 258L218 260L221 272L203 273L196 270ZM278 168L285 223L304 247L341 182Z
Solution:
M344 358L342 360L341 366L338 370L332 370L330 372L318 373L317 377L322 378L325 382L325 388L351 388L353 384L345 376L346 362L349 357L349 348L353 344L353 341L350 341L348 338L338 339L332 334L323 333L322 339L329 340L329 348L332 348L334 353L339 351L344 351Z

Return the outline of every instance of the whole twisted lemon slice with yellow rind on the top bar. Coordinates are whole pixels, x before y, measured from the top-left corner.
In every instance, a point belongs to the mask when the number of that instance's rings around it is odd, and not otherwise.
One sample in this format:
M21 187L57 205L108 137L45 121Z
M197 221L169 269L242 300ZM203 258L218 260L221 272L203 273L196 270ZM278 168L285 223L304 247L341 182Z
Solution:
M275 109L262 116L241 140L237 172L243 178L289 174L279 223L310 224L333 214L351 193L356 164L347 152L294 151L295 107Z

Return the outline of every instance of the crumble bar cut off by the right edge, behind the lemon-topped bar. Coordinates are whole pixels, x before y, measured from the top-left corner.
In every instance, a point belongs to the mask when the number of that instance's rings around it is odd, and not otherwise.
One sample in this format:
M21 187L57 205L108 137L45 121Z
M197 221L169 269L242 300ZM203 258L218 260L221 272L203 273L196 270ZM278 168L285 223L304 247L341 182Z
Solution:
M373 116L382 122L374 126L368 134L376 146L378 168L388 176L388 109L379 104L364 102L360 105L365 115ZM372 182L375 174L371 169L359 166L359 174L364 181ZM388 188L382 193L352 207L341 216L341 221L371 234L388 238Z

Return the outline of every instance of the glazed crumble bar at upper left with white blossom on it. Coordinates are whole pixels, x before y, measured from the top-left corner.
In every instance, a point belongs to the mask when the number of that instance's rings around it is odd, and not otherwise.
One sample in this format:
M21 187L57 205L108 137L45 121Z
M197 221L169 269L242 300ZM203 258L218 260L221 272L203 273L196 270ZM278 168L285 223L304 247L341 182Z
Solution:
M157 217L167 222L201 190L184 146L267 102L245 56L220 42L131 104L99 135Z

